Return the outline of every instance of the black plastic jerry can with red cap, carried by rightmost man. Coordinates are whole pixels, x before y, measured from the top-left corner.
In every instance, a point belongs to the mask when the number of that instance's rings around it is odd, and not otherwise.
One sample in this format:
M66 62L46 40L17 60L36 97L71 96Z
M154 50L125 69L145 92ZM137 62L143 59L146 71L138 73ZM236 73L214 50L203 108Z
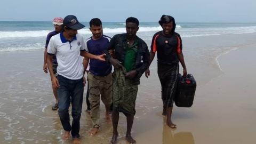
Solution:
M196 81L193 75L187 74L186 77L179 74L174 102L177 107L191 107L193 105L196 92Z

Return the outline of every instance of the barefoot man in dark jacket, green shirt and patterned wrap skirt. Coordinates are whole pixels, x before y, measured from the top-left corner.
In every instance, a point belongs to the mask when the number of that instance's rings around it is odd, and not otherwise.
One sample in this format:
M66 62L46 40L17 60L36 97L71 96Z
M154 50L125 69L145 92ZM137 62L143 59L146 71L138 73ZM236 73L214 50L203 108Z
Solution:
M147 44L136 33L139 30L137 18L126 19L126 33L115 35L105 51L106 61L114 66L113 73L113 137L111 143L116 143L119 111L127 120L126 140L136 143L131 137L131 129L135 115L135 100L140 84L140 77L149 66L149 51ZM108 51L115 51L112 58Z

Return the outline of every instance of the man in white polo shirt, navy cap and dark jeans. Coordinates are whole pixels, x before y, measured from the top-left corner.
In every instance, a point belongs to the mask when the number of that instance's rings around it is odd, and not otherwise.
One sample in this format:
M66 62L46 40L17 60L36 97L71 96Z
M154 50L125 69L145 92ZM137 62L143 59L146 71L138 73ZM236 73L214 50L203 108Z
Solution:
M98 59L104 61L104 55L93 55L85 51L85 41L82 35L77 34L78 29L82 29L84 25L78 22L74 15L68 15L63 19L63 31L50 39L47 47L47 65L52 80L52 86L57 88L59 97L59 116L63 129L63 139L68 140L71 135L74 143L79 141L80 117L82 111L83 82L83 65L82 57L90 59ZM55 54L58 61L58 76L53 74L52 55ZM72 125L69 122L69 105L72 105L71 115L73 117Z

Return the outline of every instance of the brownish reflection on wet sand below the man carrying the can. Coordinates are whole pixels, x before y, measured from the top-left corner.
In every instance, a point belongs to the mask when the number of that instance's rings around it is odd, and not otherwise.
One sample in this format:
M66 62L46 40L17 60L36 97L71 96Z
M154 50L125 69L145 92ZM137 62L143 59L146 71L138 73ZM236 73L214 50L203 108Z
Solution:
M194 144L194 137L191 132L178 132L166 125L166 117L163 118L163 144Z

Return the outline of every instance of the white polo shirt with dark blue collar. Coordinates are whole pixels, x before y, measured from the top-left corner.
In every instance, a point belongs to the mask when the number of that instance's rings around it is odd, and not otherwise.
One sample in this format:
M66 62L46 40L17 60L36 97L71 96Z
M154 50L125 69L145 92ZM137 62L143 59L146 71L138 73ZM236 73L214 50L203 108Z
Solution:
M85 50L83 36L77 34L73 41L63 37L62 32L52 36L47 47L48 54L55 54L58 67L57 73L68 79L81 79L83 77L83 57L80 51Z

